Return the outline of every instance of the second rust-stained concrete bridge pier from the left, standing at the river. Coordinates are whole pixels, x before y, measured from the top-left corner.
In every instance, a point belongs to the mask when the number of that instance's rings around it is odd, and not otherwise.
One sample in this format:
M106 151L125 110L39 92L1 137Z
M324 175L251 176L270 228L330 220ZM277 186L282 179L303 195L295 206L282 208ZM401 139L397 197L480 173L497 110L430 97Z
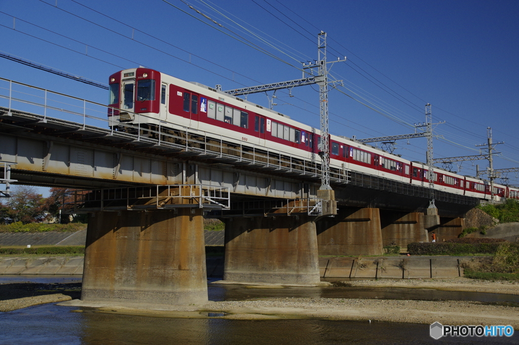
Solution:
M306 215L226 219L223 278L319 284L315 222Z

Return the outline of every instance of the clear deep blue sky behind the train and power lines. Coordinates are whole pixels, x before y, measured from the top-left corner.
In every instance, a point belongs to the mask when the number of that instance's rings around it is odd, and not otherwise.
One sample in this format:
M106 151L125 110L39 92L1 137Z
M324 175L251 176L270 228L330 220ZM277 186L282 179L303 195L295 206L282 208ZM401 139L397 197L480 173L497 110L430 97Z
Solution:
M301 62L317 59L322 30L328 35L328 59L348 58L330 72L344 80L339 90L386 115L332 90L332 133L358 138L411 133L399 121L424 121L429 102L434 121L447 122L435 128L444 137L434 141L435 158L477 154L474 145L486 143L486 128L491 127L494 141L506 142L497 146L502 157L495 158L495 168L519 167L514 102L519 91L519 2L188 3L223 27L180 0L0 0L0 50L105 83L116 71L143 65L226 90L301 78ZM107 101L105 90L6 59L0 59L0 71L3 78ZM316 90L296 88L294 97L278 91L275 110L319 127ZM268 104L265 94L248 99ZM400 141L397 147L395 153L407 159L426 160L425 139L409 145ZM484 168L486 161L474 164ZM475 175L472 162L464 162L460 173ZM515 173L508 177L519 184Z

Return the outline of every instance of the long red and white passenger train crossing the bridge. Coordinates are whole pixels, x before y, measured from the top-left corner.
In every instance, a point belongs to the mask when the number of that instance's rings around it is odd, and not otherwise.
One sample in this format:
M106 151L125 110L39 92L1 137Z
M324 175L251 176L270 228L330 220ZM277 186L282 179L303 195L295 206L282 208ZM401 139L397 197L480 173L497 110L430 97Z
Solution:
M261 146L311 160L318 154L320 131L288 116L233 95L187 82L149 68L131 68L110 76L108 116L117 130L127 125L205 132L240 146ZM126 125L126 126L125 126ZM151 133L151 132L150 132ZM429 168L342 136L330 135L330 167L350 169L427 186ZM490 199L488 181L434 168L435 189ZM519 189L494 184L494 198L519 199Z

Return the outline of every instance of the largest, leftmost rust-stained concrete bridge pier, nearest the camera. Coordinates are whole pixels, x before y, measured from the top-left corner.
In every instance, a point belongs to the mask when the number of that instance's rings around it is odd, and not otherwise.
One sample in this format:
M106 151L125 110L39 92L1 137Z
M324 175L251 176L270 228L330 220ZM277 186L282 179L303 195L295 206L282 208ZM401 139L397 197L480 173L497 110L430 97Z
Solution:
M95 212L81 299L117 305L208 301L201 209Z

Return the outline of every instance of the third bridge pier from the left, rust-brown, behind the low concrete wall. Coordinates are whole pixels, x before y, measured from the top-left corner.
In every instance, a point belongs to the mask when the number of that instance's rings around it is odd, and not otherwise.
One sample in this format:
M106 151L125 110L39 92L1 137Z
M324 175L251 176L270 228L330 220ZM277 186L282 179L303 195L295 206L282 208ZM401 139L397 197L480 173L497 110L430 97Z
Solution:
M335 217L317 222L319 255L382 254L378 209L340 208Z

